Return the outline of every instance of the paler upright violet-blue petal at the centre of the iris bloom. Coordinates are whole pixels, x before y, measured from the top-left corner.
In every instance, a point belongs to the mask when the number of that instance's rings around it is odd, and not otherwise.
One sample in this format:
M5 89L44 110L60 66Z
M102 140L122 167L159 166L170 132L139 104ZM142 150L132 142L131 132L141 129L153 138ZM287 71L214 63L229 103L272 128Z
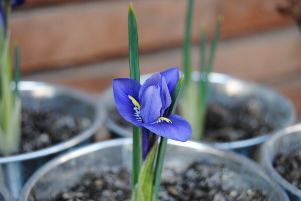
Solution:
M144 123L149 124L160 117L162 107L160 89L149 86L141 97L140 114Z

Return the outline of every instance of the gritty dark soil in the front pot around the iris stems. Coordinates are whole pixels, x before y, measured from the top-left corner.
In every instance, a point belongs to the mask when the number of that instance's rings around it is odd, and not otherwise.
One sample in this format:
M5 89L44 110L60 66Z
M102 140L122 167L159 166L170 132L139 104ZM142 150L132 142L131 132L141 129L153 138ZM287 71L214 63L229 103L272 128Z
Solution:
M259 189L243 189L239 175L228 168L195 162L182 171L166 169L162 176L160 201L263 201ZM247 182L247 181L246 181ZM50 200L129 201L130 173L126 168L105 168L84 174L69 191Z

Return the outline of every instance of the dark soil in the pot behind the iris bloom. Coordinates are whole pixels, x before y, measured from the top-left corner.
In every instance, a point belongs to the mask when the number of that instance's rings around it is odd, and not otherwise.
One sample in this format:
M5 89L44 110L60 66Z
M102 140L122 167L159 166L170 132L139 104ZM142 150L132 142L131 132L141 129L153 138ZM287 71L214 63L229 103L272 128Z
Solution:
M131 129L117 109L109 113L110 118L118 125ZM240 104L228 107L221 104L209 104L206 113L206 123L203 141L234 142L266 135L273 131L275 125L269 115L265 115L260 107L250 104Z

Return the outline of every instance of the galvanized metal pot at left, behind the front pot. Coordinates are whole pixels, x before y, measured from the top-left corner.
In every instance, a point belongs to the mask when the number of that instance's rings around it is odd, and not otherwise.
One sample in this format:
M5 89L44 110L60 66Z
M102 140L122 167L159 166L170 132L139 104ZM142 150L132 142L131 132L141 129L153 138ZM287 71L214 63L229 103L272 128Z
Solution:
M97 98L89 93L70 87L42 82L22 81L19 83L24 107L49 108L74 113L87 118L91 125L67 141L30 153L0 157L0 183L4 183L17 199L32 173L45 162L74 146L87 144L101 127L105 111Z

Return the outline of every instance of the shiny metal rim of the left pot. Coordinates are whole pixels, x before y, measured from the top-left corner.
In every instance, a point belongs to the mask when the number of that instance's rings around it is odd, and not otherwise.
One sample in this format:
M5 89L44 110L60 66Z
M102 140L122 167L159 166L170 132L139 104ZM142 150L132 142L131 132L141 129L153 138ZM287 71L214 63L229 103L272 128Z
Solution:
M33 89L42 89L46 88L51 90L53 93L57 93L60 91L63 91L64 94L68 94L74 98L78 98L83 100L83 102L86 102L87 104L90 104L94 110L95 110L95 118L92 122L91 126L77 134L76 136L68 139L67 141L60 142L58 144L55 144L53 146L43 148L37 151L29 152L29 153L22 153L12 156L5 156L0 157L0 164L2 163L8 163L8 162L14 162L14 161L24 161L24 160L30 160L34 158L39 158L42 156L50 155L53 153L57 153L63 150L66 150L79 142L82 142L89 137L91 137L93 134L97 132L99 127L102 125L102 123L105 120L105 114L106 111L104 107L101 104L98 104L99 100L102 99L102 97L97 97L96 95L88 92L84 92L72 87L68 86L62 86L58 84L51 84L46 82L36 82L36 81L21 81L19 82L19 88L20 90L33 90Z

